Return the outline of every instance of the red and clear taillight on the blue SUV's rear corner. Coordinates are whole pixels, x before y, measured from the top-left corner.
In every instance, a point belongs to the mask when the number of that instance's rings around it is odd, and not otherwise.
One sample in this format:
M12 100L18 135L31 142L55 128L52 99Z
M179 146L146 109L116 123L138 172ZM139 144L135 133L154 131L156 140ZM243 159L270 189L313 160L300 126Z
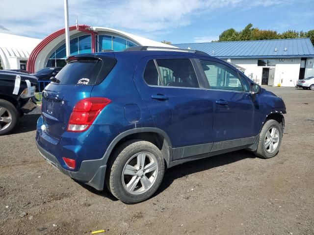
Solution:
M71 113L67 131L83 132L87 130L97 115L109 103L110 99L103 97L91 97L79 100Z

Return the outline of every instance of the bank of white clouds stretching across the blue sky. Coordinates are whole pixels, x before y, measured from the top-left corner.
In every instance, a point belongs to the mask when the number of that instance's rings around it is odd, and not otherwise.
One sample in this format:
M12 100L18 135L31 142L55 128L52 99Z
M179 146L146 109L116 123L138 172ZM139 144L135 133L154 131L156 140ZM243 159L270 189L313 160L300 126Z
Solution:
M107 26L153 37L219 8L270 6L282 0L69 0L70 24ZM0 31L44 37L64 27L63 0L1 0ZM201 39L196 39L201 40Z

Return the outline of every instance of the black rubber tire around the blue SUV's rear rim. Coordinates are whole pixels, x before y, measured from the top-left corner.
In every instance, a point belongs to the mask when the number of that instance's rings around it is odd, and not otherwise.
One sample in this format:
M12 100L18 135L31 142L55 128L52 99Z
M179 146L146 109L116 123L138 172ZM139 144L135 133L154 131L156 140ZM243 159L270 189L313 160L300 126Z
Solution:
M134 155L141 152L146 152L155 156L158 167L155 171L157 172L157 175L156 179L154 177L154 183L152 184L151 188L141 194L132 194L124 186L122 179L123 170L128 161L130 161ZM165 171L165 165L161 151L153 143L142 140L131 140L122 143L114 151L107 167L108 168L105 176L105 183L107 188L117 199L127 204L139 203L150 198L156 192L157 188L159 188ZM139 184L141 183L139 182Z

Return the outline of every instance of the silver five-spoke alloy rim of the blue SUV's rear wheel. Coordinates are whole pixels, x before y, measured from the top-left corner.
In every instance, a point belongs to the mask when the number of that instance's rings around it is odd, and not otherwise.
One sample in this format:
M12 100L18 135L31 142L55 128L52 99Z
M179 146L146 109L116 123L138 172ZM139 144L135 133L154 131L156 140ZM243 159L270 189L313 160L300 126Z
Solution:
M158 174L157 159L147 152L133 155L122 171L123 187L131 194L141 194L155 183Z

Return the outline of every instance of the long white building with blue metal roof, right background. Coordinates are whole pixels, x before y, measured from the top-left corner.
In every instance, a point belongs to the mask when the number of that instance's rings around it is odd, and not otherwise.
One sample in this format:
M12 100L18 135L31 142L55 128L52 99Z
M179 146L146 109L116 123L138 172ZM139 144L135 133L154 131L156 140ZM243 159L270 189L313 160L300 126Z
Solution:
M207 52L236 64L260 85L293 87L314 75L314 47L309 38L174 44Z

